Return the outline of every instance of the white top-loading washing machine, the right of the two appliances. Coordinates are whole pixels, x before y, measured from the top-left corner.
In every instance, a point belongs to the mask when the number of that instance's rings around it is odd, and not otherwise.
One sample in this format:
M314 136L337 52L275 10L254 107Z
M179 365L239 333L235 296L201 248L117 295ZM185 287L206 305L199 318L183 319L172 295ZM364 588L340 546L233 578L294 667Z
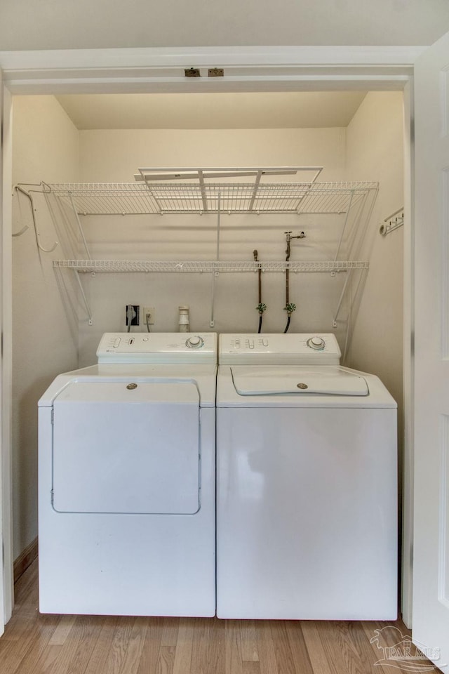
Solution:
M220 618L396 619L396 402L339 362L332 334L220 335Z

